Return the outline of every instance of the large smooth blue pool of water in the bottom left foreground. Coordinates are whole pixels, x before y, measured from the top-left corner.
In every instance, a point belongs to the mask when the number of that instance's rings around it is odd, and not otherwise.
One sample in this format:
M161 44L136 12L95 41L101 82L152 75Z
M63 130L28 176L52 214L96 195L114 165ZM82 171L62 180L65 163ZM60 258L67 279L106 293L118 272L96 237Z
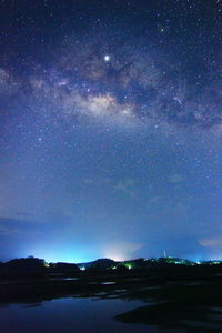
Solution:
M160 332L158 327L113 320L113 316L141 305L141 301L72 297L32 305L11 304L0 309L0 326L4 333Z

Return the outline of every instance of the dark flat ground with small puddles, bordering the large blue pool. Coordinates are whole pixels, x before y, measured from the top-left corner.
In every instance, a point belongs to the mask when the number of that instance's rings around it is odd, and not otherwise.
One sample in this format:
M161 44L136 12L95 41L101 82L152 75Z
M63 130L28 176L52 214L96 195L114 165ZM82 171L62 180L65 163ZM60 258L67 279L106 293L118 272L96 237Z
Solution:
M181 332L222 332L222 274L215 268L44 274L0 283L1 305L65 296L140 300L144 306L123 311L115 320Z

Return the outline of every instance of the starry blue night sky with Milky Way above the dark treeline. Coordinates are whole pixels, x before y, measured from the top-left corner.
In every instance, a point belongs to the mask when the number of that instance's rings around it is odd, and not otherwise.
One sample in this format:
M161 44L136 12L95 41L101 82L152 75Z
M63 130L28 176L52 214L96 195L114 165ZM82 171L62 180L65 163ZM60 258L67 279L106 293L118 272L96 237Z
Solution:
M0 17L0 260L222 259L222 1Z

